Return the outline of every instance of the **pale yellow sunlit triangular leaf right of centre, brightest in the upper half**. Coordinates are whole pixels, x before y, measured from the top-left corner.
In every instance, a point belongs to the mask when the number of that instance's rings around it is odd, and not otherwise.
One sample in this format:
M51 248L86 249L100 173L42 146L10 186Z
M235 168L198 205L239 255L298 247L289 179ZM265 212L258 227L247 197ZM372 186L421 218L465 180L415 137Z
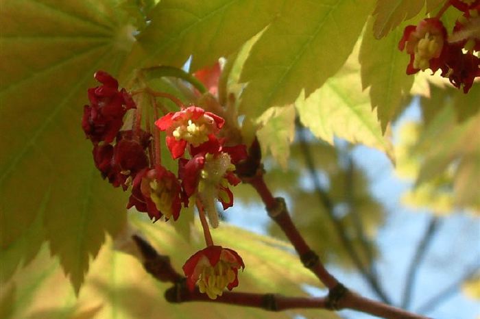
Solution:
M380 149L393 158L392 144L382 134L376 111L372 112L370 107L368 92L361 88L357 61L358 49L322 88L307 99L300 95L296 101L300 121L313 135L330 144L336 136Z

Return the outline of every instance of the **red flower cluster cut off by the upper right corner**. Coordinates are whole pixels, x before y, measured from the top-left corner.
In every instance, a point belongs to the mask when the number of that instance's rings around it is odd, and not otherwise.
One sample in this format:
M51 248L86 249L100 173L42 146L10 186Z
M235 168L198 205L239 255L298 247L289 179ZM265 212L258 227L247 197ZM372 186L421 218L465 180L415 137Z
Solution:
M458 34L474 20L479 22L480 0L450 0L444 5L444 10L450 5L462 12L453 34ZM442 77L448 78L453 86L463 88L467 93L475 78L480 77L480 39L473 36L461 40L448 38L440 16L405 27L398 49L410 55L407 74L427 68L435 73L440 69Z

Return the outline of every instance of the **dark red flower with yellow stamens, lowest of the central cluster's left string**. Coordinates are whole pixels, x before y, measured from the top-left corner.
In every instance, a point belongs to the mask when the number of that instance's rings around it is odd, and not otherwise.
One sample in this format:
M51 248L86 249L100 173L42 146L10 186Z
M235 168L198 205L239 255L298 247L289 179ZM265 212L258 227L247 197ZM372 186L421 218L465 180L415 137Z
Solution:
M177 220L181 209L180 190L177 177L165 167L142 170L134 178L127 208L135 206L154 220L162 216L166 220L172 216Z

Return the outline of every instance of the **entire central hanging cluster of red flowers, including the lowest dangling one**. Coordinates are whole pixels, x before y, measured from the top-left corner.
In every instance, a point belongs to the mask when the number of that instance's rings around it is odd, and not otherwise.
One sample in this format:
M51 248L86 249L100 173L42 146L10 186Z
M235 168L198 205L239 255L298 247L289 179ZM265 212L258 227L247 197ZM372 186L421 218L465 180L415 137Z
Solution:
M245 145L226 144L226 138L219 137L224 118L195 105L179 105L178 112L157 116L155 127L147 125L143 130L132 95L119 90L118 81L104 71L95 73L95 79L101 85L88 89L91 104L84 106L82 128L93 143L93 159L101 176L131 192L127 208L146 212L153 220L177 220L182 205L196 202L206 226L207 247L184 264L189 289L197 284L200 292L213 299L225 288L232 290L238 285L243 260L235 251L213 244L204 212L215 228L219 226L215 202L224 209L233 205L230 186L240 182L235 164L247 157ZM128 110L135 111L135 120L132 127L123 129ZM159 131L165 131L171 157L178 160L178 176L161 164Z

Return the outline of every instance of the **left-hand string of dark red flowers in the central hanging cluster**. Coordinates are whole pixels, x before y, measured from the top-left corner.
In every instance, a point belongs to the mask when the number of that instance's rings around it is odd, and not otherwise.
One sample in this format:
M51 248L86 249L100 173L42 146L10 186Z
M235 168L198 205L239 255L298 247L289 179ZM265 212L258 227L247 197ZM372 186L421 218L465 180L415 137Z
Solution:
M142 129L121 131L123 116L136 105L116 79L95 73L101 86L88 89L91 105L84 106L82 128L93 143L93 160L101 176L114 187L131 190L127 208L136 207L150 218L177 219L180 214L180 181L169 170L154 165L152 136ZM139 116L139 114L137 114ZM114 142L115 144L111 144Z

